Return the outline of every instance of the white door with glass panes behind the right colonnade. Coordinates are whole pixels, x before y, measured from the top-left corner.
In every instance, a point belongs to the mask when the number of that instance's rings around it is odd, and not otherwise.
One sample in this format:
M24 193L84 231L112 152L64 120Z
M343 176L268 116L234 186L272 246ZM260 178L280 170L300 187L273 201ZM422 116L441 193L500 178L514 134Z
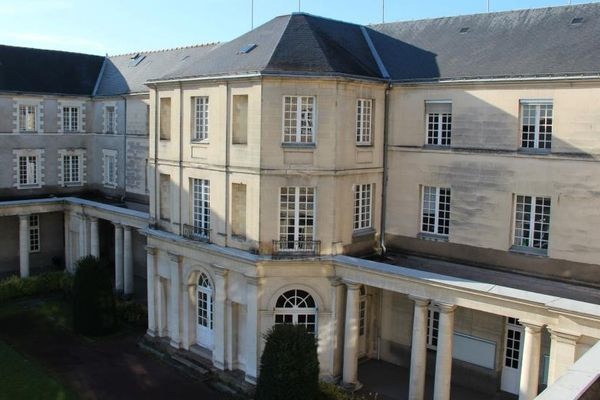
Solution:
M508 393L519 394L521 380L521 353L523 352L523 326L517 318L506 321L506 342L502 382L500 388Z

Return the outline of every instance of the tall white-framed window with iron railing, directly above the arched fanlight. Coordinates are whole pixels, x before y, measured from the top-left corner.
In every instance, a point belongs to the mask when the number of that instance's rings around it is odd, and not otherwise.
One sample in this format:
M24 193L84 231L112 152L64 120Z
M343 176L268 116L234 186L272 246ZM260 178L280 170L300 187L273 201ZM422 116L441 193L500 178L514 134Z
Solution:
M294 190L293 194L291 194L291 192L290 192L291 189ZM284 193L284 191L285 191L285 193ZM287 196L289 199L289 196L291 196L291 195L294 196L293 208L292 209L284 209L284 207L282 207L282 205L283 205L282 196ZM301 196L305 196L305 197L310 196L312 198L312 202L309 202L309 201L301 202L300 201ZM303 204L303 207L300 207L301 203ZM280 240L279 251L281 251L281 252L285 252L285 251L290 251L290 252L308 251L308 252L311 252L311 251L315 250L314 246L315 246L315 237L316 237L316 232L317 232L316 231L316 225L317 225L316 203L317 203L317 188L314 186L284 186L284 187L279 188L279 240ZM292 204L292 203L287 201L286 204ZM309 204L310 204L310 207L309 207ZM286 214L285 218L283 215L284 213ZM301 216L302 213L303 213L303 215ZM292 219L292 217L293 217L293 221L294 221L293 225L289 225L289 224L282 225L281 224L282 219L289 221L290 219ZM311 224L308 224L307 223L308 221L311 221ZM304 222L304 224L301 226L300 222ZM307 227L310 228L311 232L307 232L307 230L306 230ZM290 241L288 239L288 236L290 235L290 233L287 231L290 228L293 229L293 232L291 233L291 235L293 235L292 241Z

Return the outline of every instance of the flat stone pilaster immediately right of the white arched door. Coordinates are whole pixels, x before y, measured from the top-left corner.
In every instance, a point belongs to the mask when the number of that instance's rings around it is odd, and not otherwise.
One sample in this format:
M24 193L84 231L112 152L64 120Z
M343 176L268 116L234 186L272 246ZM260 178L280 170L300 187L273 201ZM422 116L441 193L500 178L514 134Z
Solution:
M213 319L213 364L215 367L225 370L227 365L227 270L215 267L215 292L214 292L214 319Z

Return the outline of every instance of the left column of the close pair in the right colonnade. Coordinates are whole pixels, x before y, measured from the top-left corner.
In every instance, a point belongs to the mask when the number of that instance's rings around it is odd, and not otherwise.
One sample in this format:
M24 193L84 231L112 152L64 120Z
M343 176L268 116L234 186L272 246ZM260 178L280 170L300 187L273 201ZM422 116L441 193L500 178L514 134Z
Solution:
M427 312L429 299L409 296L415 302L412 345L410 349L409 400L425 397L425 371L427 368Z

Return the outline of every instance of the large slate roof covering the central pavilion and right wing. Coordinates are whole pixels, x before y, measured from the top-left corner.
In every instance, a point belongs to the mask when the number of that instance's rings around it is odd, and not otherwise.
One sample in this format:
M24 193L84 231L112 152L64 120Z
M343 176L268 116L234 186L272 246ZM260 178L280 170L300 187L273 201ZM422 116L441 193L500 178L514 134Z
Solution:
M574 18L583 22L572 24ZM240 54L250 43L257 47ZM295 13L222 44L161 79L251 73L382 79L377 57L393 81L597 74L600 4L368 27Z

